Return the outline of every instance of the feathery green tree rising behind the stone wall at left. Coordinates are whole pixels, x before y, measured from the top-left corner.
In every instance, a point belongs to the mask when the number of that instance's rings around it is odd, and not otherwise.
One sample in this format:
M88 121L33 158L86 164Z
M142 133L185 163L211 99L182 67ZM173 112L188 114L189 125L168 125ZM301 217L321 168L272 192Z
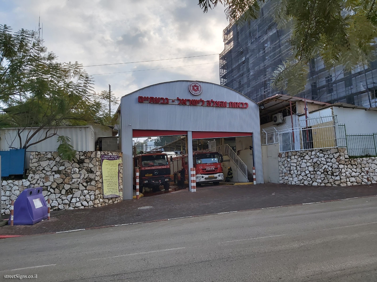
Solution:
M111 120L109 92L93 91L92 77L82 65L58 62L42 43L33 31L12 33L0 25L0 126L17 129L17 141L9 147L27 149L58 135L58 126ZM118 103L114 96L111 102ZM60 136L58 142L62 152L72 149L69 138Z

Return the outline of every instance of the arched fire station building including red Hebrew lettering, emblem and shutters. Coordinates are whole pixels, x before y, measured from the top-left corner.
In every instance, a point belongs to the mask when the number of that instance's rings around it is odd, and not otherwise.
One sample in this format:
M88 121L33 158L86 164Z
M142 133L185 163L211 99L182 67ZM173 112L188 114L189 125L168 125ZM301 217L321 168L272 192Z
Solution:
M185 135L189 156L193 140L218 140L214 146L219 147L226 165L235 167L238 180L248 182L255 167L256 183L263 183L258 105L222 85L180 80L147 86L121 98L123 199L133 196L132 138L168 135ZM230 137L234 144L227 144ZM188 167L189 171L193 167L192 158Z

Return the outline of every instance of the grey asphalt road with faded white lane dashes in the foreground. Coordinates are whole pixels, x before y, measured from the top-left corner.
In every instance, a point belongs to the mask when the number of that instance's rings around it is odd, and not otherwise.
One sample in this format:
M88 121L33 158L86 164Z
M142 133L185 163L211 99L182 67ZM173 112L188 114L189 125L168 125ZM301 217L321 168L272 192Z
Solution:
M368 197L3 239L0 280L375 282L376 204Z

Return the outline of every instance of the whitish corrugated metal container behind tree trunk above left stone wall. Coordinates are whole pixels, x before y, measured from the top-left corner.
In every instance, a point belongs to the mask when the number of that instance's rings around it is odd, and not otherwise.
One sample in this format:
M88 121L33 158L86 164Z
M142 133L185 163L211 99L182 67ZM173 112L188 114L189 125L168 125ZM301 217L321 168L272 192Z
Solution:
M21 132L21 140L25 142L27 136L35 132L37 127L27 127ZM48 128L40 130L29 142L32 144L46 136ZM54 129L50 129L49 133L53 133ZM68 136L70 144L76 151L94 151L94 130L90 125L87 126L60 126L57 127L57 134ZM59 146L57 142L58 136L52 136L40 143L30 146L26 149L26 167L29 167L30 152L55 152ZM23 145L23 144L22 144ZM0 150L7 151L13 148L20 148L20 140L17 136L17 128L3 128L0 129Z

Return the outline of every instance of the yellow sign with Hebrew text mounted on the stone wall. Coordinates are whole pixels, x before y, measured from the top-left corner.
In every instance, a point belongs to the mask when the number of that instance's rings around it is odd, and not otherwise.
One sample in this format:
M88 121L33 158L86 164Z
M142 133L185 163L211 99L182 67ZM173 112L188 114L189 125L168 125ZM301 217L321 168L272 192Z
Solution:
M119 197L119 156L102 155L102 180L104 198Z

